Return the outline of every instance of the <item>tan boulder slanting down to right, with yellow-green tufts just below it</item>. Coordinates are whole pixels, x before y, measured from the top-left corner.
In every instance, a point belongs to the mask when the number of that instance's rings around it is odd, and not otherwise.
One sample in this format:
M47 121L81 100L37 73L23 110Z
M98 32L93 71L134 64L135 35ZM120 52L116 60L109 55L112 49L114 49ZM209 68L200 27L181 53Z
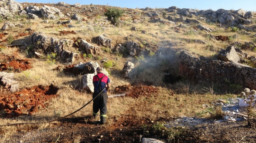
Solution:
M79 48L82 51L85 51L86 54L96 55L100 51L100 48L98 46L94 46L83 39L79 40L78 45L79 45Z

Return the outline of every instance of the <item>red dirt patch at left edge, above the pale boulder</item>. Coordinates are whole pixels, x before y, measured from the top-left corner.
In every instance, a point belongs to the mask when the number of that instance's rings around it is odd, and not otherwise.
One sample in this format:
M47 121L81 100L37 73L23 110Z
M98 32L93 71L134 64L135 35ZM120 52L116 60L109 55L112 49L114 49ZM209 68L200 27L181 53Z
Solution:
M18 72L19 70L30 69L32 66L26 59L15 59L14 56L0 55L0 71L13 70Z

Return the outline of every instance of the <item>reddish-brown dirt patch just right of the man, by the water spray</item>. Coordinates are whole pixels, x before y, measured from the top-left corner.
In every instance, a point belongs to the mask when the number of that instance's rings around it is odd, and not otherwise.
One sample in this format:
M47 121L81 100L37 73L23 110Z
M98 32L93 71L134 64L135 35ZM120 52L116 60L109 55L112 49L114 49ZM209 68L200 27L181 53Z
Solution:
M125 93L125 96L138 98L139 96L147 96L151 95L153 93L157 93L158 88L153 86L147 86L147 85L140 85L140 86L117 86L114 93L115 94L122 94Z

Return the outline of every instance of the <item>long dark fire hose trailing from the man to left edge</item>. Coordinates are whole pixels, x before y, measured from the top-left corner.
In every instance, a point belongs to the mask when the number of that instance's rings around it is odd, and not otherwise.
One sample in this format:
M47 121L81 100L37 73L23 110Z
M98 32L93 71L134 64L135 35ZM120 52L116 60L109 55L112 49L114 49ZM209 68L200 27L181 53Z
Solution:
M57 118L57 119L50 120L50 121L45 121L45 122L32 122L32 123L27 123L27 122L26 122L26 123L5 124L5 125L0 125L0 127L1 127L1 126L11 126L11 125L23 125L23 124L40 124L40 123L50 123L50 122L53 122L53 121L59 121L59 120L62 120L62 119L64 119L64 118L66 118L66 117L68 117L68 116L70 116L70 115L72 115L72 114L74 114L74 113L78 112L79 110L83 109L85 106L87 106L89 103L91 103L94 99L96 99L96 98L101 94L101 92L103 92L103 90L105 90L105 89L106 89L106 87L105 87L105 88L103 88L103 89L98 93L98 95L97 95L97 96L95 96L91 101L89 101L88 103L86 103L83 107L81 107L80 109L78 109L78 110L74 111L73 113L70 113L70 114L68 114L68 115L65 115L64 117L59 117L59 118Z

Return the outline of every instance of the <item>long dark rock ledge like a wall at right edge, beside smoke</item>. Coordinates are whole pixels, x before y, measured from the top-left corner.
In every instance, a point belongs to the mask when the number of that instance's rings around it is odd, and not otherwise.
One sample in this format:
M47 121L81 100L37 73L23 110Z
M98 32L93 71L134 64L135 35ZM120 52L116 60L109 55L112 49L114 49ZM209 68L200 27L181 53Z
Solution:
M214 83L239 84L256 89L256 68L239 63L195 57L182 51L177 56L179 75L190 80L208 80Z

